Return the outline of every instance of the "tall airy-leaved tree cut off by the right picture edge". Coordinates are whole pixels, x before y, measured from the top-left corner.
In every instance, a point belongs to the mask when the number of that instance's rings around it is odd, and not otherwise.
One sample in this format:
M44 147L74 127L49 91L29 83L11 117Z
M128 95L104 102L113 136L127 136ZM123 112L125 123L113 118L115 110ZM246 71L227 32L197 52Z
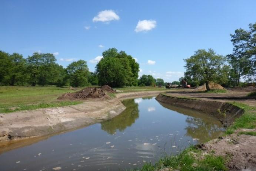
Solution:
M231 41L234 45L233 51L235 55L233 58L233 64L235 64L236 68L242 68L240 73L244 73L250 79L256 79L256 23L249 24L249 30L246 31L242 28L235 30L235 34L231 35ZM249 72L247 73L247 68L240 67L240 64L249 61ZM238 66L238 67L237 67ZM246 71L246 72L245 72ZM239 71L236 72L236 75ZM238 77L238 76L237 76Z

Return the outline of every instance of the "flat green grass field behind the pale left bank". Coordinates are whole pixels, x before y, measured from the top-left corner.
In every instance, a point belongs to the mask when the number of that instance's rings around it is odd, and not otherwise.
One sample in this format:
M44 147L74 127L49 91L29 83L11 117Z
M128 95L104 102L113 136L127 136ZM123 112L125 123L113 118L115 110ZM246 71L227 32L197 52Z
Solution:
M78 88L81 90L83 88ZM164 87L125 87L117 88L122 92L166 90ZM59 96L67 92L76 92L69 87L58 88L55 86L0 86L0 113L16 112L19 110L33 110L47 107L60 107L77 105L81 101L60 101ZM115 93L109 93L114 98Z

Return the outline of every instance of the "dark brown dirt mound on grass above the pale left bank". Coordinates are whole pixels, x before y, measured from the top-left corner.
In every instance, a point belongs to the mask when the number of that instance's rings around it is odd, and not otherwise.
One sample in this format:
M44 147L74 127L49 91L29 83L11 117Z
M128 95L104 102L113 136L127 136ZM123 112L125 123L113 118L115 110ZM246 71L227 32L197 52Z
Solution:
M109 98L109 96L101 88L87 87L75 93L65 93L58 99L96 99Z

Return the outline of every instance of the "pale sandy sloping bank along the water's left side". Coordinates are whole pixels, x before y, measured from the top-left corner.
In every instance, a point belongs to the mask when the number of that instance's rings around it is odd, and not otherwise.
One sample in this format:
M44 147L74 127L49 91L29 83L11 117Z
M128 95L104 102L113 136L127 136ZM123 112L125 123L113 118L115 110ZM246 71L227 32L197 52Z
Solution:
M89 99L73 106L0 113L0 147L10 140L47 136L112 119L126 109L121 100L160 92L163 91L117 93L110 100Z

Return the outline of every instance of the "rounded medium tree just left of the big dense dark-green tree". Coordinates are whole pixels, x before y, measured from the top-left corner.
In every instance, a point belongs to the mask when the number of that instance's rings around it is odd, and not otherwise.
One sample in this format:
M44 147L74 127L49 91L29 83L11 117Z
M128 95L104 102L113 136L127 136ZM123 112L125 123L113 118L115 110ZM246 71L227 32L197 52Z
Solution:
M67 66L67 74L69 75L71 86L80 87L88 85L88 73L89 69L86 61L79 60Z

